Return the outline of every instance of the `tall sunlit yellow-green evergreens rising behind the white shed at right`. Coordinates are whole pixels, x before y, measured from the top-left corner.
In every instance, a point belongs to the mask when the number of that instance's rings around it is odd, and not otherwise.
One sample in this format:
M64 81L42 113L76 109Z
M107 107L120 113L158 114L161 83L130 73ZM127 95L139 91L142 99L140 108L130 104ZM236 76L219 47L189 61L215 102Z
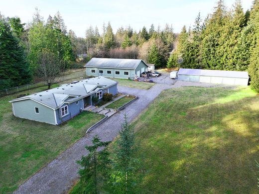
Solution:
M214 12L202 22L200 13L193 28L183 26L178 45L167 67L248 71L251 86L259 92L259 0L244 12L241 0L227 10L218 0Z

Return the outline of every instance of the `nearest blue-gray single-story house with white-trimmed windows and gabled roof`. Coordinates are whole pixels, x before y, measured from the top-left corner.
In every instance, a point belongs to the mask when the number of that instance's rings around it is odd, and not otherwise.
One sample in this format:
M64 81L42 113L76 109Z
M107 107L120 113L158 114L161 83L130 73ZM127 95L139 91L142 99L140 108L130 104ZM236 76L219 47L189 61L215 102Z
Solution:
M117 95L117 82L96 77L61 85L48 91L19 97L12 103L14 116L58 125L92 105L92 98L102 100L104 93Z

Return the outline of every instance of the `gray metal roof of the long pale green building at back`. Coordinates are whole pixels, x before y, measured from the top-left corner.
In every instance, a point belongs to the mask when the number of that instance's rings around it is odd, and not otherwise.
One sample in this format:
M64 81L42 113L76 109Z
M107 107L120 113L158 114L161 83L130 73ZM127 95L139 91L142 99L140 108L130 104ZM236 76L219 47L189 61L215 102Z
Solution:
M141 59L92 58L84 67L136 69L141 61Z

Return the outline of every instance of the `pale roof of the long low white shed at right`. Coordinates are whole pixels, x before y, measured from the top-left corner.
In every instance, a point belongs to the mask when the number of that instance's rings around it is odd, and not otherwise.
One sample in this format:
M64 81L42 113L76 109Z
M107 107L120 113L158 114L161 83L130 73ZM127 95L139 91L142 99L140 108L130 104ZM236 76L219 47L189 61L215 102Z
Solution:
M182 68L179 69L178 75L212 76L212 77L246 78L246 79L249 78L248 72L204 70L204 69L182 69Z

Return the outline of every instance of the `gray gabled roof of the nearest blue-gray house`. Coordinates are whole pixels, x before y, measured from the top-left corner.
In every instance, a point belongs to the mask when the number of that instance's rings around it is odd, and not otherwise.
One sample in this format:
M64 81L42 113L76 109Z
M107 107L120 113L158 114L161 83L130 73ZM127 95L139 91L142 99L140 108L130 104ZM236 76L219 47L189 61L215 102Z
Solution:
M52 109L56 109L63 103L70 103L82 97L90 96L100 89L109 88L117 82L102 76L82 80L74 84L64 84L40 93L10 100L10 102L32 99Z

